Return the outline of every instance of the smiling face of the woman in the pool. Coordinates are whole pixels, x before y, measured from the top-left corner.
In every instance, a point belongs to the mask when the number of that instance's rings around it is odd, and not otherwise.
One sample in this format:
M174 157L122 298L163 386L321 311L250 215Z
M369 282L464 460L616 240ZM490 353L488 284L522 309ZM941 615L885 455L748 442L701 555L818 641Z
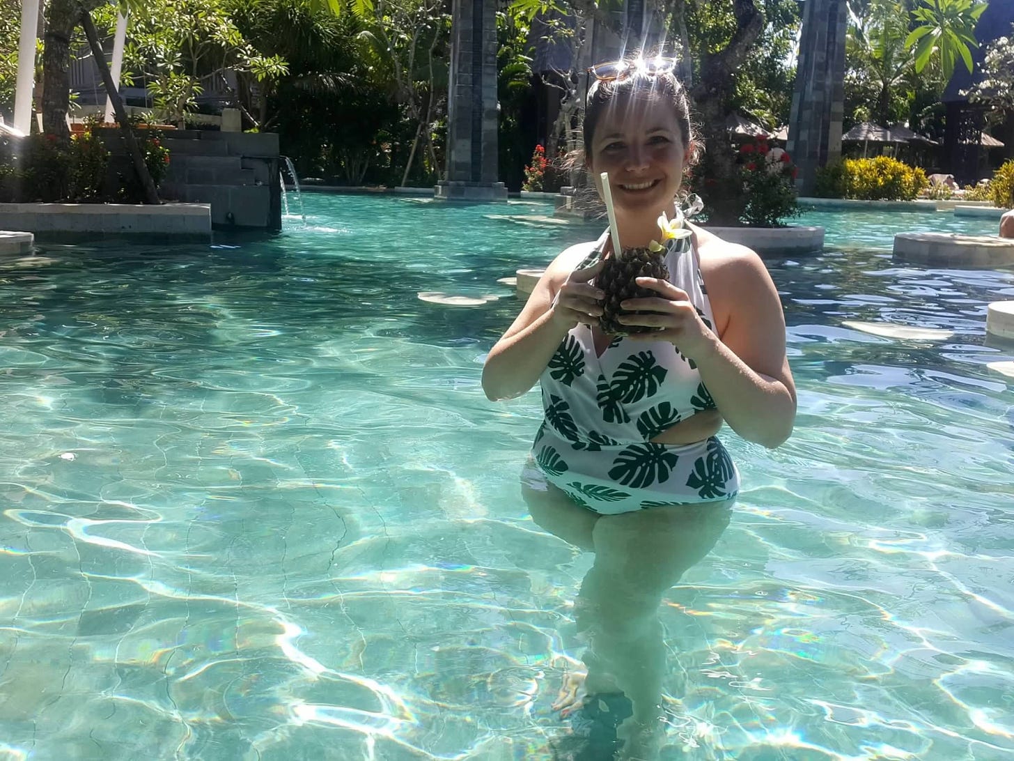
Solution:
M657 215L679 190L683 136L672 105L656 95L611 100L595 126L588 168L602 193L599 172L609 172L618 213Z

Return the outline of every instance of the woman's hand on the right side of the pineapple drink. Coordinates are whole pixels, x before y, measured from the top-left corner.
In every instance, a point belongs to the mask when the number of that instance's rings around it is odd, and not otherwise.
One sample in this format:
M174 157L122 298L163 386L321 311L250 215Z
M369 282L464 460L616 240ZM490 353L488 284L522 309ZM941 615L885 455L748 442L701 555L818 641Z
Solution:
M629 338L641 341L669 341L690 359L699 358L711 348L715 334L701 320L686 291L677 288L668 280L654 277L639 277L637 284L656 291L659 295L621 301L620 307L624 312L619 316L619 321L624 325L660 330L635 333ZM632 315L630 314L632 312L644 314Z

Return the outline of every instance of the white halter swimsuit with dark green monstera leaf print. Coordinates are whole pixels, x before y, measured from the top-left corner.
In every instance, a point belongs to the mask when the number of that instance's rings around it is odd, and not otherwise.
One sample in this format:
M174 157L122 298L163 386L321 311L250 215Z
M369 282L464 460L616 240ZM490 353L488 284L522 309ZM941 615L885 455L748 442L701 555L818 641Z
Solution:
M593 255L607 234L596 241ZM686 291L712 328L711 301L690 240L668 241L665 266L670 282ZM591 329L578 325L560 344L539 384L546 417L532 444L537 471L527 469L529 485L546 488L539 482L549 481L605 515L727 500L738 492L739 473L717 437L678 445L651 441L679 421L715 408L697 365L668 341L617 336L596 356Z

